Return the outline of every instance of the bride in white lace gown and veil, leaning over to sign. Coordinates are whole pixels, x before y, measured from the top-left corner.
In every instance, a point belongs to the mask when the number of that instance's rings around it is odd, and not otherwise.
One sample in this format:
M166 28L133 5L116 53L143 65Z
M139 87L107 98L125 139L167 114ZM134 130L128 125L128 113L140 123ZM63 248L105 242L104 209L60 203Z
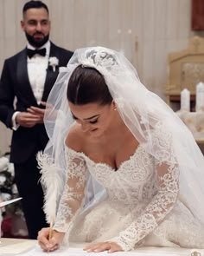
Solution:
M38 161L54 226L39 232L43 250L204 248L203 155L122 54L76 50L44 120L50 141Z

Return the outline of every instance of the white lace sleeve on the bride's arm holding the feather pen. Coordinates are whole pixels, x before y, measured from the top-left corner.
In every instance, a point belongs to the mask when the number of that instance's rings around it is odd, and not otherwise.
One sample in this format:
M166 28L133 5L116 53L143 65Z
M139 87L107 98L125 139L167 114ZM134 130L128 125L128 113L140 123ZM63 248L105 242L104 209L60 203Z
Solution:
M87 181L86 161L67 148L67 181L61 196L54 229L66 233L82 206Z

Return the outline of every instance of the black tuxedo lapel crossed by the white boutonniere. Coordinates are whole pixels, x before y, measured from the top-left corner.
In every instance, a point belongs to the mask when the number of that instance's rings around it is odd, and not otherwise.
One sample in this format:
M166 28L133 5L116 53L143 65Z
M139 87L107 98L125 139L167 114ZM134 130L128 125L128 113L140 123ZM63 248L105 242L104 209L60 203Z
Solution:
M60 56L59 56L59 52L57 50L57 47L53 43L51 43L51 45L50 45L49 57L56 57L58 60L60 60ZM42 98L41 98L42 102L47 101L49 92L52 89L58 74L59 74L58 69L56 69L54 71L53 68L48 65L44 91L43 91L43 95L42 95Z

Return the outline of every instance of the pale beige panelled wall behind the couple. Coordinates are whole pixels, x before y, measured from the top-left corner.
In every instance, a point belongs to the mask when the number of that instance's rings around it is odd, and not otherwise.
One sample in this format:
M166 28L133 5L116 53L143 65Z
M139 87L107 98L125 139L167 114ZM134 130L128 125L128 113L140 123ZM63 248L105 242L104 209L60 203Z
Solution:
M25 47L20 21L24 0L0 0L0 73L4 59ZM124 52L145 86L163 97L168 54L188 47L193 0L45 0L51 40L67 48L101 45ZM10 130L0 122L0 153Z

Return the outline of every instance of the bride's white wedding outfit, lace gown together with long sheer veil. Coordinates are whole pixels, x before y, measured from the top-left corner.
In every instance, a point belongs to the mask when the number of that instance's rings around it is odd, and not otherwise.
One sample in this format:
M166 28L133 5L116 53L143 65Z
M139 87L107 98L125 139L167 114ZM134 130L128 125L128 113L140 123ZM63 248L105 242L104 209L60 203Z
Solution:
M79 65L97 69L139 142L117 170L65 146L73 126L67 84ZM204 248L204 158L181 119L139 81L123 54L77 49L48 97L49 142L39 157L48 223L65 242ZM93 193L92 193L93 191Z

